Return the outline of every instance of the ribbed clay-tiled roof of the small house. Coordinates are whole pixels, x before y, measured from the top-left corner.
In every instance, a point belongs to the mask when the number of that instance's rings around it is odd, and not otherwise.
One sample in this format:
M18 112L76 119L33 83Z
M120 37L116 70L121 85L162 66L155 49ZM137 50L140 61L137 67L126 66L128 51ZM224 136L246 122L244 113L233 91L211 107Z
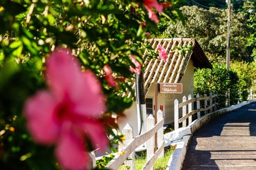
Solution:
M168 54L166 63L159 58L146 60L143 63L146 68L144 72L145 92L147 94L151 84L158 83L179 83L185 74L189 60L193 61L195 67L212 69L212 65L203 53L195 39L190 38L161 38L149 39L150 45L158 54L159 45ZM185 55L181 55L177 47L189 47ZM184 48L184 49L185 49ZM135 89L135 84L134 84Z

